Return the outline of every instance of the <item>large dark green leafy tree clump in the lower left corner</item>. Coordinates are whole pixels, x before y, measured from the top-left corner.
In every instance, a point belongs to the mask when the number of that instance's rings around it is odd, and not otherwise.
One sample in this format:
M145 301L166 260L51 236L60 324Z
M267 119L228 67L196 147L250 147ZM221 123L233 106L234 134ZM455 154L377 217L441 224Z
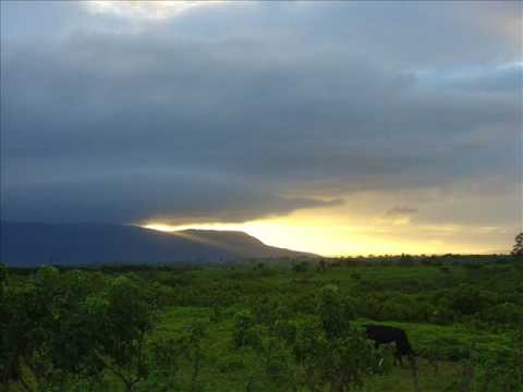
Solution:
M34 279L7 286L0 311L2 383L29 390L28 369L39 389L63 390L109 369L132 391L146 375L151 313L127 278L42 267Z

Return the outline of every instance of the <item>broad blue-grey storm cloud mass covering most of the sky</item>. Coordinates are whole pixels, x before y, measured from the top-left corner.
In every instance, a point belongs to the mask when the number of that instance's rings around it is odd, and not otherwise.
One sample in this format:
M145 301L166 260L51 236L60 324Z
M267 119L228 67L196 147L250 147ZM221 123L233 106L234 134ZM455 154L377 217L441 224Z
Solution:
M514 182L522 69L492 65L514 61L495 28L510 11L474 11L484 30L461 5L272 4L138 33L86 14L94 27L44 45L10 39L2 218L244 221L351 192Z

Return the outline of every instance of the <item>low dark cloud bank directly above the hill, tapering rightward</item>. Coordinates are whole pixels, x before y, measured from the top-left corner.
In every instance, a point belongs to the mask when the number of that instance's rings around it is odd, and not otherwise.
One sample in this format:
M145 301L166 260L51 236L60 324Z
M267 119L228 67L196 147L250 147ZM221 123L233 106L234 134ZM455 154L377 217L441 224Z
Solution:
M125 194L124 194L125 193ZM125 171L5 188L4 219L44 221L242 222L329 207L340 200L288 198L223 173ZM41 206L46 206L45 209Z

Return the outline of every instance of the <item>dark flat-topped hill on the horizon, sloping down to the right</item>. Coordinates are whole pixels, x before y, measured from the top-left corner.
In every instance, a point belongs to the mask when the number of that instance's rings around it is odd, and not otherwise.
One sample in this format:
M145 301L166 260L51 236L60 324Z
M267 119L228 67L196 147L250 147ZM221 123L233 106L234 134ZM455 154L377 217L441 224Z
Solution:
M123 224L1 222L0 260L12 267L41 264L212 262L314 256L265 245L243 232L159 232Z

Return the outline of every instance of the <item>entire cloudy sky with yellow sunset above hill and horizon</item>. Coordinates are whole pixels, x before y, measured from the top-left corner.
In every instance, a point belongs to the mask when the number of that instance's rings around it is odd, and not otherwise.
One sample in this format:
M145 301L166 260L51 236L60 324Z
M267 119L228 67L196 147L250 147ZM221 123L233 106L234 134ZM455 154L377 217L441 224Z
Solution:
M508 252L522 8L1 1L1 218Z

